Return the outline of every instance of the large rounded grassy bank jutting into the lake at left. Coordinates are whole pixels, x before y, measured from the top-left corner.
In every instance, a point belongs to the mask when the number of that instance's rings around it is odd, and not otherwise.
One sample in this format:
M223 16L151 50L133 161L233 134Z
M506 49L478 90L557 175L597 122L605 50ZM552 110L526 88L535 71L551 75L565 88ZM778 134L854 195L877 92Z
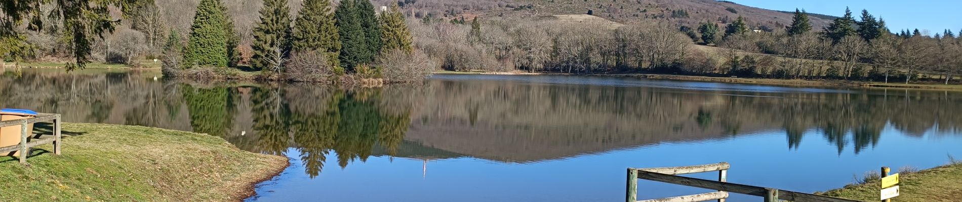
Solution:
M35 148L29 166L0 157L0 201L240 201L287 166L215 136L63 124L63 155Z

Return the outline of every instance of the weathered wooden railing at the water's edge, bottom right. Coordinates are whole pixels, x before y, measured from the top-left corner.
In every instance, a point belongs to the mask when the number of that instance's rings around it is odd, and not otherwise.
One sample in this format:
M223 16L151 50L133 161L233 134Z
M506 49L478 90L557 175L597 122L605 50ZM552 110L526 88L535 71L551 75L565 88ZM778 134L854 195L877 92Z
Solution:
M625 197L626 202L696 202L707 200L718 200L724 202L728 198L728 192L742 193L748 195L765 197L766 202L777 202L788 200L794 202L859 202L844 198L829 197L811 193L796 191L780 191L772 188L763 188L750 185L741 185L726 182L728 163L691 166L691 167L671 167L671 168L628 168L628 184ZM705 180L693 177L675 176L675 174L688 174L697 172L719 171L719 180ZM657 182L671 183L701 189L715 190L716 192L700 193L694 195L676 196L669 198L641 200L638 198L638 179L646 179Z

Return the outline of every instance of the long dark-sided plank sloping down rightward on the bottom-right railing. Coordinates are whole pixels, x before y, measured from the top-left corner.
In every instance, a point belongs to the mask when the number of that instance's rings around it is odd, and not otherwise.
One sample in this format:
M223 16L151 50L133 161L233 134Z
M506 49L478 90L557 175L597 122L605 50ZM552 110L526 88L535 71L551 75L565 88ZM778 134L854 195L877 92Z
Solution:
M755 195L755 196L765 196L766 193L768 193L768 191L765 190L765 188L763 187L719 182L719 181L713 181L713 180L704 180L704 179L698 179L698 178L692 178L692 177L675 176L671 174L663 174L663 173L651 172L646 170L638 170L638 178L651 180L651 181L664 182L664 183L671 183L675 185L683 185L688 187L696 187L696 188L715 190L715 191L736 192L736 193ZM835 198L835 197L796 192L796 191L778 191L778 199L790 200L795 202L859 202L856 200Z

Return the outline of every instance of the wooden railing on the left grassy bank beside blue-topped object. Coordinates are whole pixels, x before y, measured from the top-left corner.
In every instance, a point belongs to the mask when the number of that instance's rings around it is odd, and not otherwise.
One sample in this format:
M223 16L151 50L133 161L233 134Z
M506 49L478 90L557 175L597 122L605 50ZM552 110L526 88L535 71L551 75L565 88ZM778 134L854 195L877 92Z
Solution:
M36 138L32 138L33 134L27 133L27 127L31 123L43 123L43 122L53 122L53 134L39 134ZM54 145L54 154L61 154L61 120L60 114L38 114L37 117L22 120L11 120L0 122L0 127L20 125L20 144L16 146L4 146L0 147L0 153L7 153L11 151L19 151L20 154L20 164L27 164L27 157L30 155L28 152L30 147L40 146L44 144ZM10 135L10 134L4 134ZM35 139L35 140L31 140ZM28 141L31 140L31 141Z

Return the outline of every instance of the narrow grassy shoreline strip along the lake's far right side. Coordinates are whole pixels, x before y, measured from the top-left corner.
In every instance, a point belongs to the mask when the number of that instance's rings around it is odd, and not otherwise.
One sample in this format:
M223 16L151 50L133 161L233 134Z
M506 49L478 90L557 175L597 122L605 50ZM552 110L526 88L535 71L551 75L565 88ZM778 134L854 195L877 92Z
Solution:
M435 72L437 75L559 75L559 76L585 76L585 77L617 77L617 78L640 78L640 79L667 79L683 81L706 81L742 84L766 84L782 86L808 86L808 87L862 87L862 88L902 88L902 89L924 89L924 90L953 90L962 91L962 85L958 84L914 84L914 83L882 83L873 81L855 80L808 80L808 79L746 79L746 78L715 78L704 76L682 76L682 75L658 75L658 74L570 74L570 73L527 73L527 72Z

